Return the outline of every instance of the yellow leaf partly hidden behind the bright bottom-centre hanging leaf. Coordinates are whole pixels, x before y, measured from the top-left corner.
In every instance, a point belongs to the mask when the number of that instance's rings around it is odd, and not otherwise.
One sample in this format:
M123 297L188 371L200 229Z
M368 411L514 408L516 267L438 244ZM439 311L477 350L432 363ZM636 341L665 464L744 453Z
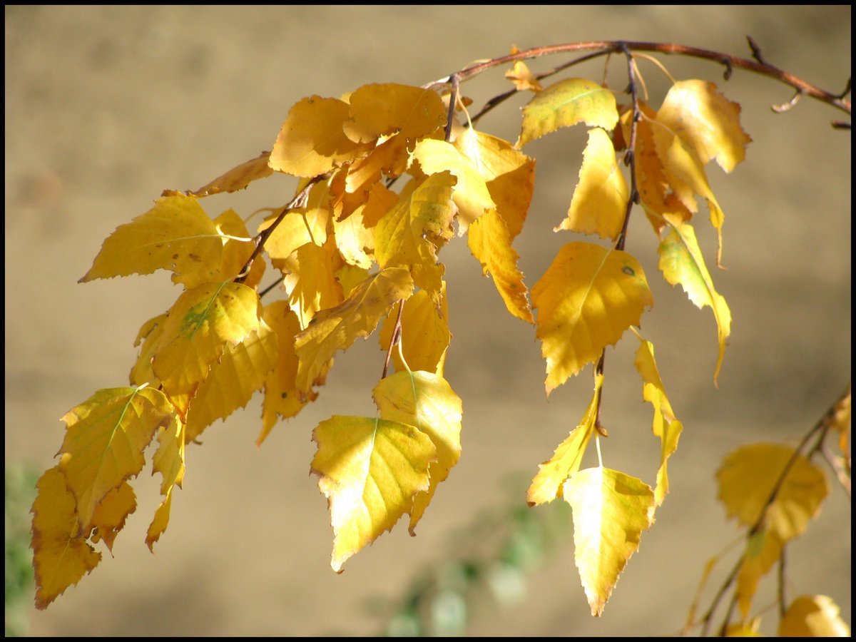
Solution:
M461 398L443 377L431 372L398 372L381 379L373 392L381 419L413 425L431 438L437 449L431 461L427 490L414 497L410 513L410 534L422 519L437 484L449 477L449 471L461 457Z

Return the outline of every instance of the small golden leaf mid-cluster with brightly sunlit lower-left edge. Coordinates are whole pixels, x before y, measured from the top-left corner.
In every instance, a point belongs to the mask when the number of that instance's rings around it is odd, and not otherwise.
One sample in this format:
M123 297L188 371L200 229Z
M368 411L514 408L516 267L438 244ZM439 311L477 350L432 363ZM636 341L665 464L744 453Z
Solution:
M291 309L300 319L300 327L306 328L318 310L342 303L342 285L336 281L333 264L336 254L331 237L324 247L313 243L298 247L283 262L283 269L287 271L283 283L288 290Z

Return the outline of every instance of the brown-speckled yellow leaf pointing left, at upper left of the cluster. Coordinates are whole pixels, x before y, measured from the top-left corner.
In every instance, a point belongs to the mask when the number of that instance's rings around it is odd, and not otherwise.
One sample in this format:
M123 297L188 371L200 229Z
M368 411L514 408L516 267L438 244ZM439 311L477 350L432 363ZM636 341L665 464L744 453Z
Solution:
M193 288L220 269L223 241L196 199L175 194L116 228L80 282L172 270L172 280Z

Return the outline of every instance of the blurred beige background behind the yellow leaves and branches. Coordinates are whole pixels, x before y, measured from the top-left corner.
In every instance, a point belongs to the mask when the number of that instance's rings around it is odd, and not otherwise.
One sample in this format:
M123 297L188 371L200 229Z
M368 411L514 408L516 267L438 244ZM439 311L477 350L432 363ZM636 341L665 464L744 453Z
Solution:
M849 6L839 7L9 7L5 9L6 463L52 465L57 419L96 389L124 385L134 336L178 292L165 273L76 283L104 237L149 209L164 188L199 187L270 149L291 104L368 82L420 85L511 45L592 39L671 41L769 62L830 91L850 75ZM569 56L533 62L544 70ZM526 600L479 601L473 635L660 635L680 630L706 562L737 537L716 502L718 461L740 444L796 443L850 377L850 134L840 112L791 98L785 86L704 61L661 58L676 78L715 81L743 106L746 163L710 180L726 213L716 284L733 335L715 389L716 326L658 277L655 240L634 212L627 249L645 266L656 306L643 318L675 412L684 422L670 463L672 492L642 538L600 619L588 614L573 544L530 576ZM623 61L610 66L616 89ZM663 76L640 62L655 97ZM603 61L574 74L599 79ZM476 105L505 91L502 71L464 86ZM658 93L659 92L659 93ZM514 140L524 98L480 128ZM500 113L502 112L502 113ZM558 247L585 132L566 130L526 152L538 159L536 197L516 241L531 287ZM281 205L293 184L271 178L204 202L212 216ZM702 214L699 222L706 217ZM699 223L707 256L709 225ZM331 414L372 413L383 368L374 337L336 358L319 400L277 425L261 449L259 400L211 426L189 449L187 475L155 555L144 544L158 480L143 473L140 508L109 554L45 612L33 635L371 634L367 600L401 597L426 565L454 551L451 533L508 502L567 436L591 392L586 374L544 399L532 328L511 318L463 243L447 262L454 339L447 377L464 401L463 455L409 538L399 524L329 567L332 532L308 475L312 428ZM712 262L712 261L711 261ZM265 283L270 282L270 275ZM604 461L653 483L658 443L633 371L633 342L609 349ZM850 621L850 504L834 486L820 518L793 544L788 594L824 593ZM460 544L457 543L457 544ZM721 580L721 575L718 578ZM759 606L773 603L770 579ZM768 609L767 620L775 620ZM766 629L767 633L771 630Z

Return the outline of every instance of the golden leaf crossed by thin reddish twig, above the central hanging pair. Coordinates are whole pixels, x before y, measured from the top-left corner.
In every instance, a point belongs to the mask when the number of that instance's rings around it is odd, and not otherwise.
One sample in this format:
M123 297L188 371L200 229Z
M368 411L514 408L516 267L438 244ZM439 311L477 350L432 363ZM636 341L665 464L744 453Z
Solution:
M431 299L431 294L425 290L419 290L407 300L407 305L401 312L401 352L410 370L436 372L443 376L443 357L452 339L449 332L449 309L446 304L446 282L443 282L440 298L439 308ZM392 341L396 312L393 309L389 314L378 336L380 349L384 352ZM392 363L396 372L407 370L401 363L397 350L392 352Z

